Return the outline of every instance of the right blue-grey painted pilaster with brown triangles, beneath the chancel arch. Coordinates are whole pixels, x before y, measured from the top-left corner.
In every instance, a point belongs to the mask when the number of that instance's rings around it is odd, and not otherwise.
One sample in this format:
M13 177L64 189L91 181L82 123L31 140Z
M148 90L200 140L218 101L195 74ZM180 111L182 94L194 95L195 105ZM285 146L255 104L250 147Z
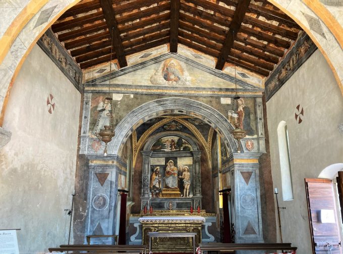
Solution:
M230 156L235 242L263 242L259 163L261 154Z

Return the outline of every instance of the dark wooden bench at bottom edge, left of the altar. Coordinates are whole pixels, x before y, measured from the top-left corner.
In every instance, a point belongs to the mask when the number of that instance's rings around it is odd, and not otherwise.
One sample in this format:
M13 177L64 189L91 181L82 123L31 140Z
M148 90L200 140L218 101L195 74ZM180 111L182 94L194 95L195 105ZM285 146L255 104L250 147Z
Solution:
M88 244L72 244L72 245L60 245L56 248L48 248L49 252L52 251L73 251L77 253L79 251L90 251L95 253L117 253L117 252L130 252L130 253L142 253L146 254L146 245L88 245ZM126 254L127 254L126 253Z

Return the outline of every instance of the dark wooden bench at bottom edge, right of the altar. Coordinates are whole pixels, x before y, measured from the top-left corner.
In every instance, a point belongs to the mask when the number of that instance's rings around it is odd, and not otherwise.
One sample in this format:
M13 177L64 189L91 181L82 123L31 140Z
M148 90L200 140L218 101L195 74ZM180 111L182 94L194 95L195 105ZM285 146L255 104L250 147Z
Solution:
M297 250L292 243L200 243L201 251L235 253L236 250Z

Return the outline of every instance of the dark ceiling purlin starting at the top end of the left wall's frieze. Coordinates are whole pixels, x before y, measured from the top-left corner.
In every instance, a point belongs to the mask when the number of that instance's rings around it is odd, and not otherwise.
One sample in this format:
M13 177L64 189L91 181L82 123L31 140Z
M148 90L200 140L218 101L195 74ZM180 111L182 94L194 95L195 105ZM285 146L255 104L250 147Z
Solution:
M95 21L98 21L98 20L103 21L104 18L105 17L103 16L102 11L95 12L88 15L84 15L76 19L70 19L67 21L60 22L60 23L54 23L51 26L51 29L53 32L58 33L65 30L70 30L71 28L74 28L74 27L78 27L78 26L81 27L85 24L94 23Z

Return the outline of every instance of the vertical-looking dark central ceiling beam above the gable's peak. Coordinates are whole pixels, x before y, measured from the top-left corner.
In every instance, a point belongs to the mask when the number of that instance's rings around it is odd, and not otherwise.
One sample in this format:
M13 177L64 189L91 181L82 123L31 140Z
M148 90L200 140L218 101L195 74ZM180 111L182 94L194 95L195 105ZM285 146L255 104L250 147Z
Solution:
M178 52L180 0L170 0L170 52Z

